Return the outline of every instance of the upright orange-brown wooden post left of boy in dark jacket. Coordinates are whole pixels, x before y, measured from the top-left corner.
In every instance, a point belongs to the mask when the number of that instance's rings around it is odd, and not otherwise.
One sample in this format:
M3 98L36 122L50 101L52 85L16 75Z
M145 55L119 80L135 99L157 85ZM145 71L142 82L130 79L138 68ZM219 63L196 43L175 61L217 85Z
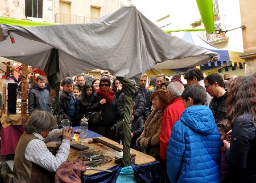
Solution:
M27 65L22 64L22 103L21 114L27 114Z

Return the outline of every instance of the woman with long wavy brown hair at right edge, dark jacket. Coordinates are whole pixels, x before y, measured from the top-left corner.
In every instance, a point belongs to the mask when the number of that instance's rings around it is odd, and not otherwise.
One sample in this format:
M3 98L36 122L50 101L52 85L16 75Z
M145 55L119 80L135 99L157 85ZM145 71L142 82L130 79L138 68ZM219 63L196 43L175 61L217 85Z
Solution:
M224 147L232 182L256 182L255 91L253 76L238 77L228 91L226 107L232 133L224 141Z

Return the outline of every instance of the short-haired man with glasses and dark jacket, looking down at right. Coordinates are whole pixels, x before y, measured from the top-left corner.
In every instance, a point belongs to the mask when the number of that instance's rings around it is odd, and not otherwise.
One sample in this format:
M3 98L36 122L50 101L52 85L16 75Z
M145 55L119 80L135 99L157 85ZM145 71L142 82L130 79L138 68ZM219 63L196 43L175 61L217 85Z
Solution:
M225 84L220 74L210 74L204 79L204 86L212 96L209 108L212 110L216 123L226 118L226 98Z

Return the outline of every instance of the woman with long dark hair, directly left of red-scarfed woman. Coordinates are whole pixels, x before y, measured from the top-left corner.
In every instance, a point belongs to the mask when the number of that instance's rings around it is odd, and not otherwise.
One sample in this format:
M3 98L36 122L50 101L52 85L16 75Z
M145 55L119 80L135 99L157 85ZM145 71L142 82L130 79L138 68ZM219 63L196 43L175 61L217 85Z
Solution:
M82 92L77 98L75 104L77 124L80 124L82 117L84 117L84 115L87 115L87 108L90 103L90 97L93 95L93 93L94 90L92 84L86 83L84 87L82 87Z

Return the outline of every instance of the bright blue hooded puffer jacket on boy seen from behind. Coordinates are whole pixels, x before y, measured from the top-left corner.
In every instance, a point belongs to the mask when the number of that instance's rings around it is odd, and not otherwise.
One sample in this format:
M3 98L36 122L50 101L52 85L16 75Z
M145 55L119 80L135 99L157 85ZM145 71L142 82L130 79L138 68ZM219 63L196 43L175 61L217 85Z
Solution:
M170 181L220 182L220 156L220 134L212 111L205 105L185 109L168 144Z

